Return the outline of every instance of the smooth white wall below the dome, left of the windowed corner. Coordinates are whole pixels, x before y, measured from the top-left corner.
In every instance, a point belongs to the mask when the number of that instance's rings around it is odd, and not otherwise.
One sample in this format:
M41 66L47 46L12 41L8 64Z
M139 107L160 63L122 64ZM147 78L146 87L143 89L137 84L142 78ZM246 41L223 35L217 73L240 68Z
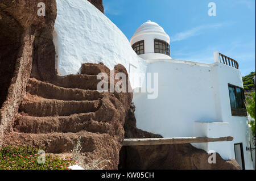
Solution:
M216 119L210 66L155 60L147 72L159 74L159 96L135 93L137 126L164 137L193 135L193 121Z

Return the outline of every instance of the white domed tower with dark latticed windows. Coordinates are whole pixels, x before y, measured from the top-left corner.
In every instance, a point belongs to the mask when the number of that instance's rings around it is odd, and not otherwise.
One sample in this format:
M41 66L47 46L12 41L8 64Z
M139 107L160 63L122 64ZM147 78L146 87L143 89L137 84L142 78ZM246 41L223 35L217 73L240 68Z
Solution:
M150 20L136 30L130 43L134 51L145 60L171 59L170 36Z

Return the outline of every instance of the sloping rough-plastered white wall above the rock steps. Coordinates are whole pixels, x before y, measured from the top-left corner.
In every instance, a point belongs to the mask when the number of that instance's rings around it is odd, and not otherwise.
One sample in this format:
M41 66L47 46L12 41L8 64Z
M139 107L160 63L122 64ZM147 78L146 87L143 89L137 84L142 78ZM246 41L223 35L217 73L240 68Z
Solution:
M56 0L53 41L60 75L76 74L85 62L103 62L110 69L122 64L129 71L146 71L129 40L102 12L85 0ZM138 87L139 82L131 82Z

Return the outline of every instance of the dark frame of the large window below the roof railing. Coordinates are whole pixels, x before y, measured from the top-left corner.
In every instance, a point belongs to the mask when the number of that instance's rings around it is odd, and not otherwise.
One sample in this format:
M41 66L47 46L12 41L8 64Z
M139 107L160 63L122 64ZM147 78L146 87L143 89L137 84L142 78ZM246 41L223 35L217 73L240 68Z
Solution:
M232 113L232 116L240 116L240 117L244 117L244 116L247 116L247 110L246 110L246 106L245 106L245 90L242 88L242 87L238 87L238 86L235 86L235 85L232 85L232 84L228 84L228 90L229 90L229 87L233 87L234 88L234 94L236 96L236 100L237 99L237 89L241 89L241 94L242 94L242 108L233 108L232 107L232 102L231 102L231 99L230 99L230 92L229 92L229 101L230 101L230 108L231 108L231 113ZM237 103L237 101L236 101Z

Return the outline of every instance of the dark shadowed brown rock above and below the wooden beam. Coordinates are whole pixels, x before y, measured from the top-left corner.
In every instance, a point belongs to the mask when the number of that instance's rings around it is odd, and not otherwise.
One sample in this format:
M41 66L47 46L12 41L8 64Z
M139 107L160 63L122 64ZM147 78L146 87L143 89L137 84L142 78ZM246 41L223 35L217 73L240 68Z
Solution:
M125 121L125 138L158 138L160 135L136 128L135 107L132 105ZM209 164L204 150L191 144L123 146L119 169L152 170L240 170L235 160L225 161L216 154L216 164Z

